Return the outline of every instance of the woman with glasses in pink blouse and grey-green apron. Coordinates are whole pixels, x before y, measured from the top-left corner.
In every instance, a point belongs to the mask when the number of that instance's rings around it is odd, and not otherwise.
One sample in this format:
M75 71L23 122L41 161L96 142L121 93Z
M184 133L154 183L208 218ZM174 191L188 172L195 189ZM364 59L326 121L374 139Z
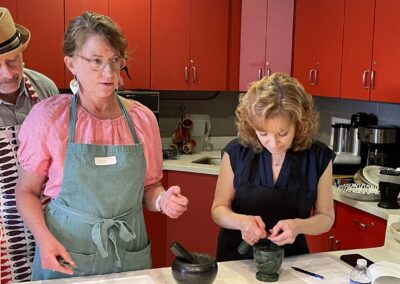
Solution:
M37 104L21 127L17 205L37 240L32 279L151 267L143 206L179 217L188 200L161 186L162 151L153 113L118 97L127 43L106 16L84 13L64 35L74 95ZM35 126L35 128L33 128ZM51 197L41 212L38 197Z

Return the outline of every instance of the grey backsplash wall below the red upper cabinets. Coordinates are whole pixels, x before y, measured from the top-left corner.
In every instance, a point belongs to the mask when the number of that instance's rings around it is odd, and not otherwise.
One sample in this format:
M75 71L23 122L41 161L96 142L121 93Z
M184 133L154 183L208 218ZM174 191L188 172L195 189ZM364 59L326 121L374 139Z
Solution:
M173 95L171 95L173 94ZM186 113L208 114L211 118L211 137L236 136L234 124L238 92L161 92L160 131L161 137L171 136L180 121L179 107ZM318 139L330 142L332 116L350 119L356 112L373 113L379 124L400 125L400 104L314 97L315 107L320 112Z

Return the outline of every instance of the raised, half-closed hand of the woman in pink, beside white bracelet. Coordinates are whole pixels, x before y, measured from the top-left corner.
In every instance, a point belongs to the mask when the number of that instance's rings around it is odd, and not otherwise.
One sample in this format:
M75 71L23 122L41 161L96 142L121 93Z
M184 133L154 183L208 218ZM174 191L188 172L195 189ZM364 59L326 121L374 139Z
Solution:
M163 194L160 207L161 210L170 218L178 218L186 211L189 200L181 194L179 186L171 186Z

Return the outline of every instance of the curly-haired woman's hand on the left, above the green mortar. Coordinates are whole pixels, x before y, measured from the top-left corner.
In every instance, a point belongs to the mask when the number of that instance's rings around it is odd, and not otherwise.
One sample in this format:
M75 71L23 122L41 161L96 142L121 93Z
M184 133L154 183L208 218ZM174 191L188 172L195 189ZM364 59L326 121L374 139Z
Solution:
M260 216L245 216L240 231L242 239L249 245L254 245L260 239L267 237L265 224Z

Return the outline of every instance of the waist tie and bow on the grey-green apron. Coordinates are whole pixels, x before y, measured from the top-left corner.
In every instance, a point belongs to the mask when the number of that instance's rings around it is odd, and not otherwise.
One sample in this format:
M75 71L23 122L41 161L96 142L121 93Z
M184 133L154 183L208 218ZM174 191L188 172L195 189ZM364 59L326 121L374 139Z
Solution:
M109 230L112 227L117 227L119 231L119 237L124 240L125 242L129 242L133 239L136 238L136 233L133 230L131 226L129 226L128 223L125 221L121 221L118 219L121 219L123 217L129 216L129 215L136 215L141 211L141 207L136 207L133 208L132 210L125 212L115 218L111 219L105 219L105 218L99 218L94 215L87 214L83 211L80 211L75 208L71 208L57 199L54 199L52 202L50 202L49 208L54 208L54 209L59 209L61 210L64 214L70 217L76 217L79 221L93 225L92 228L92 240L96 244L98 250L100 251L100 254L103 258L108 256L108 239L113 243L114 245L114 251L115 255L117 256L117 260L115 264L117 266L121 266L121 258L119 257L118 254L118 249L117 249L117 236L115 235L114 230Z

